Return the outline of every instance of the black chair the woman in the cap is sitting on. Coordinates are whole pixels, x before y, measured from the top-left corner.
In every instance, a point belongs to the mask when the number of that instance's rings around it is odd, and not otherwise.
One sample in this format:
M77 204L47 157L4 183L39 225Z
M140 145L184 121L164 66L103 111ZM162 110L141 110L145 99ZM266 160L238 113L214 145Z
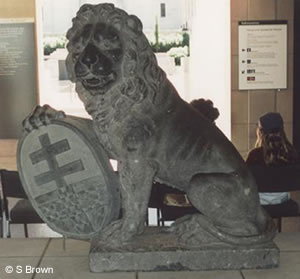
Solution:
M266 167L250 166L260 193L300 191L300 165ZM280 204L263 205L269 215L278 220L278 231L282 229L282 217L300 216L299 204L289 199Z

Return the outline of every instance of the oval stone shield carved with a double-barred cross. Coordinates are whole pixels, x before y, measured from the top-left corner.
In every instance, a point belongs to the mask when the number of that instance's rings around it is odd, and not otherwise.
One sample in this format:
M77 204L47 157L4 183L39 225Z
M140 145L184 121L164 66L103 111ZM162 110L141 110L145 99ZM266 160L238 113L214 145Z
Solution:
M54 231L89 239L120 213L120 185L92 123L75 117L53 120L18 144L25 192Z

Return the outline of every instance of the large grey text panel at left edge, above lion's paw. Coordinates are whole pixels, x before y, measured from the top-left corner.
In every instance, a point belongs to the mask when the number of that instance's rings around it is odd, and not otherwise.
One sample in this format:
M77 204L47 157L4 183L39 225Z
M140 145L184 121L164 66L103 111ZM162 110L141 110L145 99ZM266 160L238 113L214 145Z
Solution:
M18 138L37 104L36 47L32 21L0 21L0 138Z

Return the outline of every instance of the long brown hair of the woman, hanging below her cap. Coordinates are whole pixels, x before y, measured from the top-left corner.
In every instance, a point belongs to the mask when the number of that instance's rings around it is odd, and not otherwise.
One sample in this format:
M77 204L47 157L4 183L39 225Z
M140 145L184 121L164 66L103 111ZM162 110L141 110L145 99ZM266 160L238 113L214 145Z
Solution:
M297 161L297 151L288 141L283 128L268 133L261 127L257 129L255 147L262 147L266 165L282 165Z

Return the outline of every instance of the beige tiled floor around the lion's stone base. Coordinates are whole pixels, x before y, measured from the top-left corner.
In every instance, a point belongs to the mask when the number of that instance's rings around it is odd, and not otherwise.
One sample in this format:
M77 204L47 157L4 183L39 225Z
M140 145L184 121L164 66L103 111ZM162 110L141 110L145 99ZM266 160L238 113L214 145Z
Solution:
M62 239L1 239L0 278L51 279L299 279L300 233L282 233L275 239L281 250L280 267L269 270L199 272L90 273L89 243ZM7 266L12 267L12 273ZM33 272L32 268L37 268ZM19 272L19 273L18 273ZM27 273L26 273L27 272ZM44 272L44 273L42 273Z

